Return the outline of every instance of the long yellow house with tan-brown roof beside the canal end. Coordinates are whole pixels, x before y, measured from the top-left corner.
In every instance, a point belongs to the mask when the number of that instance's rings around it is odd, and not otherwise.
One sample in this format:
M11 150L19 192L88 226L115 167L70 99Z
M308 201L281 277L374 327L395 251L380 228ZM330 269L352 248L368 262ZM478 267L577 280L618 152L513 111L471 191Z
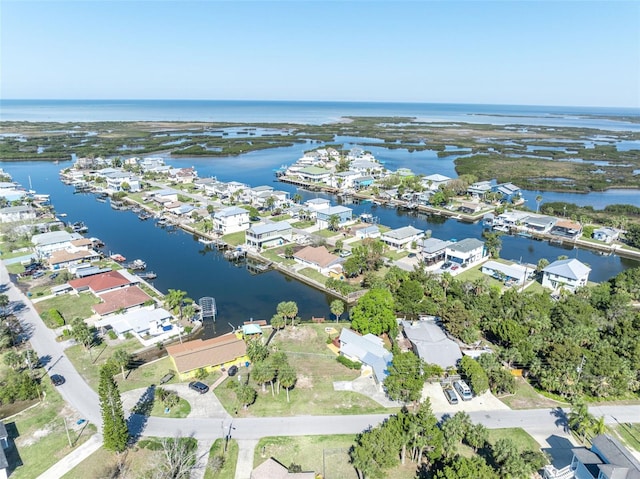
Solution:
M198 369L213 371L248 360L245 342L233 333L167 346L167 353L182 380L192 377Z

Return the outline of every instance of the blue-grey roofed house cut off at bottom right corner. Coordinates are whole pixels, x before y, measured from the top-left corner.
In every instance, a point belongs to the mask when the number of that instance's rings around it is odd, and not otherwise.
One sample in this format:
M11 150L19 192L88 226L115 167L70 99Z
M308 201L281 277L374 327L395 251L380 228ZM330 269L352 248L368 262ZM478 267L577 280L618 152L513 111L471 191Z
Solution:
M629 449L608 434L591 439L591 449L576 447L571 450L571 464L556 469L549 465L543 469L545 479L638 479L640 461Z

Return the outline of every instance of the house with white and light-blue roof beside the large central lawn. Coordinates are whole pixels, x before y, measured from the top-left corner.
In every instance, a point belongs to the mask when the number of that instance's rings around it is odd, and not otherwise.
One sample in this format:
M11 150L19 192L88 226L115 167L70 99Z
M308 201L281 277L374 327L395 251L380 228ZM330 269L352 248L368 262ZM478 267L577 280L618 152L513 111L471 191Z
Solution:
M393 361L393 354L383 346L383 341L373 334L360 334L348 328L340 332L340 355L369 366L380 388L389 375L387 368Z

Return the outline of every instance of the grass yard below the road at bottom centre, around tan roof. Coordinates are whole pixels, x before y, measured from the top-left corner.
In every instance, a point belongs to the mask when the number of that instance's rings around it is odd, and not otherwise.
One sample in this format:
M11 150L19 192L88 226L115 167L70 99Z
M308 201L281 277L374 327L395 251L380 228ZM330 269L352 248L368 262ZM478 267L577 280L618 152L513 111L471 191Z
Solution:
M303 471L313 471L322 477L357 479L356 471L349 463L348 452L354 441L355 435L351 434L264 437L254 451L253 467L273 457L285 467L298 464Z

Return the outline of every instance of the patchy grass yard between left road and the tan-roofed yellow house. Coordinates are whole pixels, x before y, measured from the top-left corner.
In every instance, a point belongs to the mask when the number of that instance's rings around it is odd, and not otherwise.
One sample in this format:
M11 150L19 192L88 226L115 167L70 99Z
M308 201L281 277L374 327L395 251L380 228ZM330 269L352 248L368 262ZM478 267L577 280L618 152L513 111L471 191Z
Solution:
M76 344L75 346L67 348L65 350L65 353L69 360L73 363L74 367L82 375L85 381L87 381L89 386L97 391L98 383L100 382L100 366L107 362L107 360L113 355L113 353L115 353L119 349L124 349L128 353L133 353L133 351L140 349L140 343L136 339L127 339L115 346L111 346L108 343L104 342L98 346L94 346L93 348L91 348L91 352L89 352L84 346ZM164 374L166 374L166 371L164 372ZM117 381L122 380L122 374L116 374L114 377ZM144 387L148 385L149 384L145 384ZM130 389L135 388L131 387Z

